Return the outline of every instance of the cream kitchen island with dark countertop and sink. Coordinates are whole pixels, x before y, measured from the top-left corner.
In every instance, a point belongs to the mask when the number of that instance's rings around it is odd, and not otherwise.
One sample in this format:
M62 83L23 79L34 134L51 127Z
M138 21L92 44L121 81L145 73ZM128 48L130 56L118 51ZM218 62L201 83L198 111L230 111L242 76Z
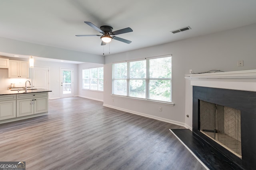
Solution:
M45 89L0 91L0 124L48 114L48 92Z

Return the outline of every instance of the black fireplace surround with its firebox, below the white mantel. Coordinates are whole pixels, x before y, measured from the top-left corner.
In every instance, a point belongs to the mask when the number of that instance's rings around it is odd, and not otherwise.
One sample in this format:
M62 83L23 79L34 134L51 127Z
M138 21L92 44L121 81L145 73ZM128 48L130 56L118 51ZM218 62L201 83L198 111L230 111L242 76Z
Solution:
M193 86L192 131L234 164L256 167L256 92Z

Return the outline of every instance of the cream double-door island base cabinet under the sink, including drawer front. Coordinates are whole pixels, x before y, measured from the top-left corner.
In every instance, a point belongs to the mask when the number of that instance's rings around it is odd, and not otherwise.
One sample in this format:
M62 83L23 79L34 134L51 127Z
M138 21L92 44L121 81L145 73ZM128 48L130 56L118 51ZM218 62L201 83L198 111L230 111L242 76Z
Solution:
M17 99L17 117L48 112L48 92L17 94Z

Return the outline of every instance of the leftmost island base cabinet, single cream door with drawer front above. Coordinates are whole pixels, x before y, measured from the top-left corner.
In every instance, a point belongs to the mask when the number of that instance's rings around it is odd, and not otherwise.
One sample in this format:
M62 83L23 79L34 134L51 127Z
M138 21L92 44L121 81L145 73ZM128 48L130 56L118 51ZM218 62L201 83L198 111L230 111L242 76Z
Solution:
M16 117L16 95L0 96L0 120Z

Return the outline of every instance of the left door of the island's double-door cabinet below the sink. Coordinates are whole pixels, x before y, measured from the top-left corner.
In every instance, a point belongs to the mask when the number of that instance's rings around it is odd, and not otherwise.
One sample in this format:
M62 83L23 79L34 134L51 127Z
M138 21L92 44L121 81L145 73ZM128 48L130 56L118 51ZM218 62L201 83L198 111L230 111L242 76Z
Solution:
M17 100L17 117L34 114L33 102L34 102L33 99Z

